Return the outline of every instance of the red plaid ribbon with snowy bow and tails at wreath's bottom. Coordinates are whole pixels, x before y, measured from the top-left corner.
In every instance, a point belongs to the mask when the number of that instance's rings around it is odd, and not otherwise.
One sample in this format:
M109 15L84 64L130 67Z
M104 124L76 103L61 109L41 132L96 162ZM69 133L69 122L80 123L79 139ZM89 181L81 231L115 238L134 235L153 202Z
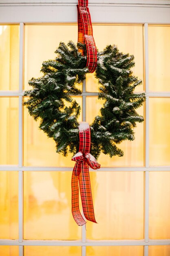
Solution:
M79 188L84 216L87 220L97 223L93 209L88 166L96 170L100 168L100 164L98 164L95 157L89 153L91 147L91 130L89 124L86 130L79 129L79 141L79 152L72 158L72 161L75 161L76 163L73 169L71 188L73 218L77 225L82 226L86 221L79 211Z

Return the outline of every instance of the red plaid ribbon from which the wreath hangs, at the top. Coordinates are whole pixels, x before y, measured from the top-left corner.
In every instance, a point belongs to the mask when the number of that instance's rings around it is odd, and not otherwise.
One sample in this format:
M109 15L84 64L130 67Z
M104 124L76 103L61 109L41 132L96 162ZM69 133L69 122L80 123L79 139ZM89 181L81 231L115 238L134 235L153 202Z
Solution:
M79 0L77 4L78 13L78 42L86 44L87 64L89 72L93 73L97 67L97 49L93 38L91 15L88 9L88 0ZM82 54L84 51L79 49Z

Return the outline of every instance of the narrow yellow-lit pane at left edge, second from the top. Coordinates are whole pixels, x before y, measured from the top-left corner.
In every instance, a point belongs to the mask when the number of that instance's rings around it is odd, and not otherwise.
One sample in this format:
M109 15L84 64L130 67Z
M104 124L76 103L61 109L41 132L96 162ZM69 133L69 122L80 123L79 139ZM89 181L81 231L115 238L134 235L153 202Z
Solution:
M18 98L0 97L0 164L18 164Z

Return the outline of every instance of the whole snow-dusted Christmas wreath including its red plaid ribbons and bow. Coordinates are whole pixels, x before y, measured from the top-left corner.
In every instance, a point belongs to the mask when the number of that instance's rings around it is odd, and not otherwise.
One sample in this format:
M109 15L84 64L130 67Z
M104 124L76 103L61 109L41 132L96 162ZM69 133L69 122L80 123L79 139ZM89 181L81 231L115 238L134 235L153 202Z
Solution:
M97 52L88 0L78 0L77 13L77 46L71 41L67 45L60 43L55 60L42 63L44 75L29 81L33 90L25 92L29 99L24 105L35 120L41 119L39 127L55 140L56 151L64 156L68 151L74 155L72 214L77 225L82 226L86 220L79 210L79 190L85 218L96 223L89 166L100 168L96 159L101 152L110 157L123 155L117 144L134 139L136 122L144 120L136 109L144 102L145 94L134 93L141 83L130 70L135 65L134 56L119 52L115 45ZM98 98L105 102L89 126L86 122L78 123L80 106L73 96L82 94L78 85L87 73L94 71L100 84Z

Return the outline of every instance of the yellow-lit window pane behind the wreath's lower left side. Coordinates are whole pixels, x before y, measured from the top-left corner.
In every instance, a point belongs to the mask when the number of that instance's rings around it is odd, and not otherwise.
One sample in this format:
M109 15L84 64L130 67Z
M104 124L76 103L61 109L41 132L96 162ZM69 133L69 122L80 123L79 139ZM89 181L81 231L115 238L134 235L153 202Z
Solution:
M73 97L82 108L82 97ZM78 121L82 120L82 112ZM24 108L24 166L74 166L72 154L64 157L55 152L55 141L38 128L40 121L34 121Z

